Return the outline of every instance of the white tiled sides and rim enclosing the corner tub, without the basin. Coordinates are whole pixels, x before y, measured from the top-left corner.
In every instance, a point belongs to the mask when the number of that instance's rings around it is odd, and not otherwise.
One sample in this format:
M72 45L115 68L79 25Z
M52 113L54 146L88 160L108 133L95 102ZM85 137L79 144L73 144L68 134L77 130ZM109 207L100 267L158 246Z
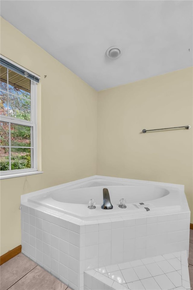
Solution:
M137 209L125 215L120 209L119 216L111 210L105 218L92 219L74 218L23 195L22 252L75 290L84 288L86 270L188 250L190 211L184 189L170 186L180 195L179 207L170 212Z

